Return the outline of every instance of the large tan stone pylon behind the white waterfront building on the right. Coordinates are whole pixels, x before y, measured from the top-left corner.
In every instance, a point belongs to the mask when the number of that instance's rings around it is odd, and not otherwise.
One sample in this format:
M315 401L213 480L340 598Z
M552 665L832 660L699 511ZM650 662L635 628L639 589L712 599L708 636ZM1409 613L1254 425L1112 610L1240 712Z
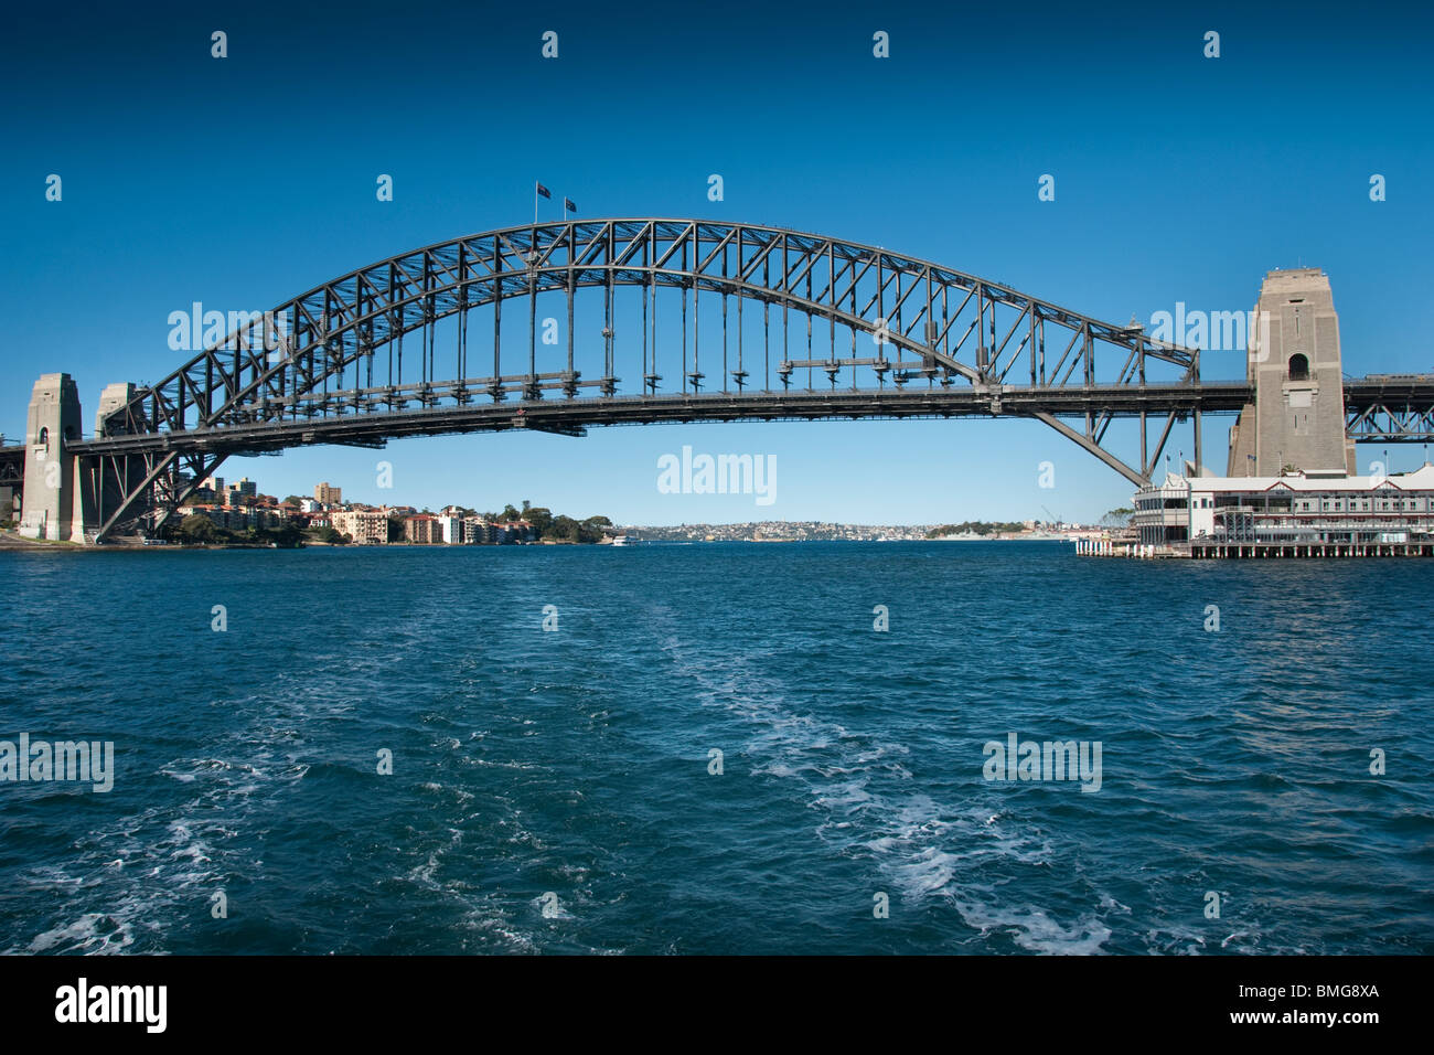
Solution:
M1283 466L1352 475L1345 435L1339 316L1318 267L1271 271L1250 334L1255 402L1230 429L1230 477L1278 477Z

